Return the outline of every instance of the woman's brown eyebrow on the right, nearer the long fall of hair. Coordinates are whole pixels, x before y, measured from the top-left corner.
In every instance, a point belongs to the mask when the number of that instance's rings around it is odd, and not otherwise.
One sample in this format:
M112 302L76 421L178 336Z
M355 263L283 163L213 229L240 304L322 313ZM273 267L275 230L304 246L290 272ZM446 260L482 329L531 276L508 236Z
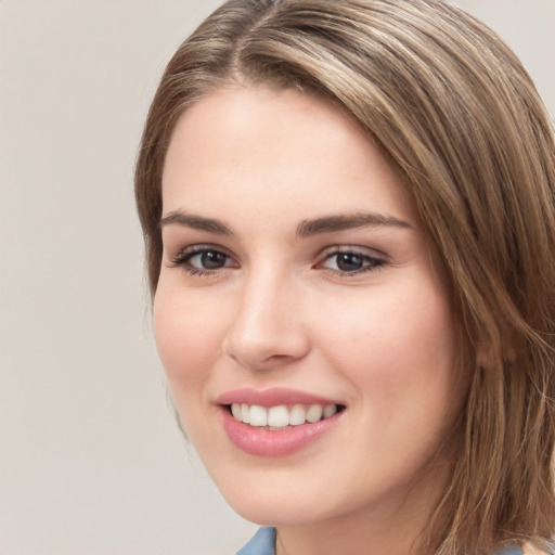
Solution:
M366 227L391 227L399 229L411 229L412 225L393 216L386 216L377 212L354 212L347 215L326 216L314 220L305 220L297 228L298 237L310 237L320 233L332 233Z

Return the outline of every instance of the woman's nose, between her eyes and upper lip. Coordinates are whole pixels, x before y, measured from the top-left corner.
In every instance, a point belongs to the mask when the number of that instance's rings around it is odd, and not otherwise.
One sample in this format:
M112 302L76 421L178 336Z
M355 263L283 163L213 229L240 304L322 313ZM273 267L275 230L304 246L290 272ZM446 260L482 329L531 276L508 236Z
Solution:
M304 358L310 341L298 288L271 271L247 278L223 350L249 370L270 370Z

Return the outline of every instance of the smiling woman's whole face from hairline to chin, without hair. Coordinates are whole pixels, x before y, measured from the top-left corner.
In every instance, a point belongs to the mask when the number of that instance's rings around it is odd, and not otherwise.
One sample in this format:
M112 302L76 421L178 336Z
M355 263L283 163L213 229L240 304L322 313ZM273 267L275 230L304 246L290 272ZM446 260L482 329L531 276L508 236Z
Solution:
M163 197L156 341L230 504L283 526L433 499L443 481L425 470L466 379L418 219L372 141L325 101L230 88L181 117Z

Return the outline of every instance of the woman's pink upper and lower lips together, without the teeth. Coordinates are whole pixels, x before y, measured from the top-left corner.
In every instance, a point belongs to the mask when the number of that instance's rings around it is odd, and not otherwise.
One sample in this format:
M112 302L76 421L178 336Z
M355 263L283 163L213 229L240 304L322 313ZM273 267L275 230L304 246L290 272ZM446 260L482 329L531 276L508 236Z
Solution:
M279 404L341 404L305 391L286 388L257 390L253 388L234 389L217 400L223 429L231 442L242 451L264 457L287 456L301 451L332 430L345 411L334 416L300 426L288 426L280 430L255 427L236 421L228 409L232 403L275 406Z

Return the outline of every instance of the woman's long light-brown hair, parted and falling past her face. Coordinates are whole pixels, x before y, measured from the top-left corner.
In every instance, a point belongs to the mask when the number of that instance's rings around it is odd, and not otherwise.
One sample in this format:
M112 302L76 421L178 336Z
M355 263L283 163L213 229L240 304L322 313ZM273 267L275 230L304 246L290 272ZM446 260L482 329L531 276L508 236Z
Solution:
M142 138L135 193L153 294L172 130L188 106L225 83L294 87L350 114L399 175L437 251L473 379L426 550L548 548L555 141L519 61L440 0L227 2L170 61Z

